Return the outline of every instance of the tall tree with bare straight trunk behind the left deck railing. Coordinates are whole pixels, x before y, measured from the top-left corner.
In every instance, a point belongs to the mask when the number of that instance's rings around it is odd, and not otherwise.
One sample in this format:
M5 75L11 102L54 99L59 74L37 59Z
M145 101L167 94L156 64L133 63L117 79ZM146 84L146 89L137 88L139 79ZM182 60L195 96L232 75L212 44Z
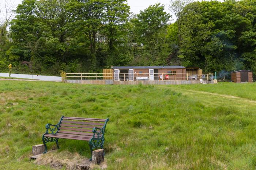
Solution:
M106 5L107 0L73 0L68 4L69 11L72 13L73 19L76 22L75 30L89 39L91 71L95 71L97 66L97 33L102 30L104 25L103 17L105 15Z

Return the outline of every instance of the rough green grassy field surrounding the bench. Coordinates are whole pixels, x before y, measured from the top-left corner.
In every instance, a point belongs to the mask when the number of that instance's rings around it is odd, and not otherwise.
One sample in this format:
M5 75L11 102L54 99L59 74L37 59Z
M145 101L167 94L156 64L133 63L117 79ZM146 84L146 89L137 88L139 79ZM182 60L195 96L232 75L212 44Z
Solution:
M32 145L42 143L45 124L56 124L61 115L110 119L105 134L108 169L255 169L252 90L255 84L0 81L0 169L52 169L30 161L29 155ZM60 139L59 144L59 155L90 157L87 142Z

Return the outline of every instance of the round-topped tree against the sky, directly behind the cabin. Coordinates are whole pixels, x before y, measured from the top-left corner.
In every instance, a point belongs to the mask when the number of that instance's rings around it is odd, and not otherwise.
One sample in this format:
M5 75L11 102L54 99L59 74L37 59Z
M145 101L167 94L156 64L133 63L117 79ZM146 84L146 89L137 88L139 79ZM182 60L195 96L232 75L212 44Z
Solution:
M138 31L136 33L138 35L136 43L143 45L143 49L145 49L145 51L142 51L142 60L144 60L143 55L147 55L148 64L151 65L154 63L163 64L164 62L158 63L159 58L161 58L159 55L165 47L167 22L171 17L164 9L164 5L160 3L150 5L150 7L140 11L137 17L131 20L136 27L136 31ZM167 58L167 54L163 55Z

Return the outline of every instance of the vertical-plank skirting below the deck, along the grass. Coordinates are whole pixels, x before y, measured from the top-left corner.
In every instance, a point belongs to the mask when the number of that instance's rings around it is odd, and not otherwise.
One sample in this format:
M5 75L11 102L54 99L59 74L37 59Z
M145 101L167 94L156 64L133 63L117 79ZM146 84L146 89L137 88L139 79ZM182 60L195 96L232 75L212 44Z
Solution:
M164 80L164 81L114 81L114 80L66 80L67 83L95 85L183 85L199 84L199 80ZM209 82L212 83L212 82Z

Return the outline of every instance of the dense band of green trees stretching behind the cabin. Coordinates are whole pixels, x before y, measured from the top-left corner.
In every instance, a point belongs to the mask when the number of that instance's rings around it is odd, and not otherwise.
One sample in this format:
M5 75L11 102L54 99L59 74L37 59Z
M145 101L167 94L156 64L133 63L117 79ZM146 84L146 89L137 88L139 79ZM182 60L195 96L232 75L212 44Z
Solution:
M111 65L184 65L256 73L256 0L172 0L138 15L127 0L23 0L1 24L0 70L101 72Z

